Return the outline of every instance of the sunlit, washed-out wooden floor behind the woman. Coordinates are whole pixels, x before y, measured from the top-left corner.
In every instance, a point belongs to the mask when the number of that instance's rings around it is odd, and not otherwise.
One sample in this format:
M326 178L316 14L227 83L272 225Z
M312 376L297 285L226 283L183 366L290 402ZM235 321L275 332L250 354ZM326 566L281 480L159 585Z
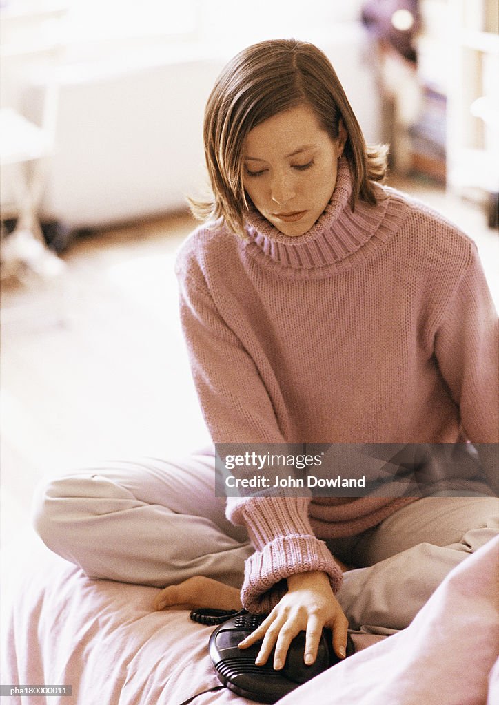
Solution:
M395 182L479 244L493 295L499 237L481 209L426 183ZM188 214L77 240L66 272L6 284L1 330L1 539L29 522L44 475L92 459L184 455L208 441L177 313L175 252Z

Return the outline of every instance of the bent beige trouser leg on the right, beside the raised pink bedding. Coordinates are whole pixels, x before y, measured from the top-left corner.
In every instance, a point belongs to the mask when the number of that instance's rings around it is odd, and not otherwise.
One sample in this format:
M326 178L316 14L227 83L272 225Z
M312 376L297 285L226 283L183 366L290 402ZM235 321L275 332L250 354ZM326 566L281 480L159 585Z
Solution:
M337 593L350 627L404 629L447 573L498 533L498 498L426 497L328 541L340 560L366 566L344 573Z

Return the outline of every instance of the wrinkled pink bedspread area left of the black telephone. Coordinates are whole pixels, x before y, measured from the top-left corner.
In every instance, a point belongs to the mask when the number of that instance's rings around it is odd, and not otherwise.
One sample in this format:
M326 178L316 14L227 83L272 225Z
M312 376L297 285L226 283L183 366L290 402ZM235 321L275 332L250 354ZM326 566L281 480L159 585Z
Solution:
M40 546L15 601L1 682L73 685L73 697L9 697L8 705L178 705L221 685L208 658L212 627L188 611L152 611L157 589L89 580ZM195 705L241 703L224 689Z

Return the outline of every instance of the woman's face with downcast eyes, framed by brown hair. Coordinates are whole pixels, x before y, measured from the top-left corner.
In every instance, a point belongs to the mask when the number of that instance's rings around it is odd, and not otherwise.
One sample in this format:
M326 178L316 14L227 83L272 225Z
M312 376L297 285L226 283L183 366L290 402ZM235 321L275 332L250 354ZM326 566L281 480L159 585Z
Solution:
M255 208L284 235L303 235L335 190L346 133L332 140L307 106L268 118L244 143L244 189Z

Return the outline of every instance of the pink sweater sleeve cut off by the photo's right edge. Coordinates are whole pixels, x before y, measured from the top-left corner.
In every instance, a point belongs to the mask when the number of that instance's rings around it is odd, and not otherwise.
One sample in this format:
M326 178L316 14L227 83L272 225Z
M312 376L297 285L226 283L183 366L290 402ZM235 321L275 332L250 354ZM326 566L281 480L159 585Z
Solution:
M435 333L435 357L459 407L464 436L476 444L498 492L499 322L476 246Z

